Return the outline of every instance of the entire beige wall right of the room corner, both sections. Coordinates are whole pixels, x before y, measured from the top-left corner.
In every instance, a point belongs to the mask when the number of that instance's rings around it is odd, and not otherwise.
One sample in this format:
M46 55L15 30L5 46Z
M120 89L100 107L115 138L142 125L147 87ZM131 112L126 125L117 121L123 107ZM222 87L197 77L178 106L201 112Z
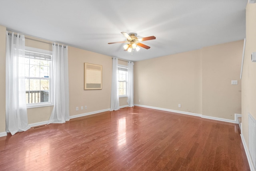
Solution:
M134 103L234 120L241 113L242 50L237 41L135 62Z

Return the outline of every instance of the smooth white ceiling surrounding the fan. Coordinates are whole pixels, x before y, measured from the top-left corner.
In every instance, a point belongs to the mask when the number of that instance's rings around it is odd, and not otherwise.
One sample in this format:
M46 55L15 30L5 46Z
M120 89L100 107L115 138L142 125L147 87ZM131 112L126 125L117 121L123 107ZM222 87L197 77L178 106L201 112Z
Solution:
M247 0L1 0L0 25L46 40L140 61L243 40ZM120 32L137 33L133 55Z

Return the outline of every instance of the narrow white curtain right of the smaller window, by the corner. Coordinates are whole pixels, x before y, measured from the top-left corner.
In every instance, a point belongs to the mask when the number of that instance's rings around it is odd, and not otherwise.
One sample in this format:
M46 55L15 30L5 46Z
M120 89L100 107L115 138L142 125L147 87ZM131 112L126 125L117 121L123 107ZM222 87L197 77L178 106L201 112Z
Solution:
M127 96L128 96L128 106L133 107L133 62L128 62L128 75L127 75Z

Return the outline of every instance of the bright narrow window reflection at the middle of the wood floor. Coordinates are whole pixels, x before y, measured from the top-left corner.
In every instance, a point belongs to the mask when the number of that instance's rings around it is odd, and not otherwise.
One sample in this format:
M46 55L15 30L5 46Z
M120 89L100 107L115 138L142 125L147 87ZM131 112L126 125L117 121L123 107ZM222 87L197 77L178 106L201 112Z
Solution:
M126 117L118 119L118 147L126 143Z

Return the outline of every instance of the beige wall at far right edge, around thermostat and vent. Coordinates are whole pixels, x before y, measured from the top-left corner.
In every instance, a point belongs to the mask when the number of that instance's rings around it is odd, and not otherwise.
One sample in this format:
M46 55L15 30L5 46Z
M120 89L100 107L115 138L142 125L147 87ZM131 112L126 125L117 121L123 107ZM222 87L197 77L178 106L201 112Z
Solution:
M251 62L256 52L256 4L246 6L246 48L242 72L242 135L248 146L248 113L256 119L256 62Z

